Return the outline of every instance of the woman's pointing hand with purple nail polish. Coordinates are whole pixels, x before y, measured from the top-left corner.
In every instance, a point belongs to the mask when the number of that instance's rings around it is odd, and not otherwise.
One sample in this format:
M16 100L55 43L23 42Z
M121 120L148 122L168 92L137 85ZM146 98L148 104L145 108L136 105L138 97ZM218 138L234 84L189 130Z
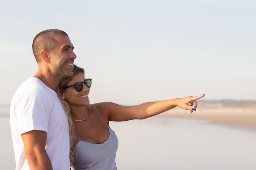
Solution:
M179 106L180 108L186 109L186 110L190 110L191 113L196 110L196 106L198 105L196 100L200 99L204 97L203 95L199 95L199 96L189 96L189 97L184 97L184 98L176 98L177 100L177 106Z

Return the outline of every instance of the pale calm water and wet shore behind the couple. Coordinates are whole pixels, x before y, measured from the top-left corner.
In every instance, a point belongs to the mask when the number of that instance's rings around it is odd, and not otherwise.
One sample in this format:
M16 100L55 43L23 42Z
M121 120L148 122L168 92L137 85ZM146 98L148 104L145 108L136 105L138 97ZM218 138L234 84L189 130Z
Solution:
M119 138L118 170L256 169L255 131L161 116L110 126ZM14 170L9 113L3 111L0 132L0 170Z

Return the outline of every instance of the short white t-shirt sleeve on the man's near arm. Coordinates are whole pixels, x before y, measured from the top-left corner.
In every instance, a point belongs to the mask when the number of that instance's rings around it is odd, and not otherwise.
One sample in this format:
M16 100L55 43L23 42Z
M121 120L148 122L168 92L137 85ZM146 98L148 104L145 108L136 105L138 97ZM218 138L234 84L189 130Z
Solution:
M47 93L40 88L25 89L17 100L16 116L19 133L31 130L47 132L52 103Z

